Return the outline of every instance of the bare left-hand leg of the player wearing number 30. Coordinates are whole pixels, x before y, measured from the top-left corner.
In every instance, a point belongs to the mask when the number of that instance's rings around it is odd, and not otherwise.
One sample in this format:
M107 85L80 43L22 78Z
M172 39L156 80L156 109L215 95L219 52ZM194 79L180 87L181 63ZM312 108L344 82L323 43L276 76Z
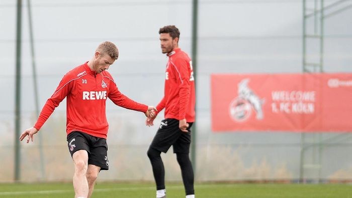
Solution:
M72 159L74 162L74 197L86 198L89 191L87 178L85 177L88 168L88 152L86 150L78 150L73 153Z

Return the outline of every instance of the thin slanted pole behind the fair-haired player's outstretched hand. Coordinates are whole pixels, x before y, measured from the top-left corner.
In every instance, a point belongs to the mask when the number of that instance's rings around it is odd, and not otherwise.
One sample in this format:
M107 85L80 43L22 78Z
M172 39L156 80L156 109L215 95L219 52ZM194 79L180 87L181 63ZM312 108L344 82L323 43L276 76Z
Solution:
M36 115L39 117L39 95L38 95L38 83L37 83L37 70L35 63L35 52L34 52L34 42L33 42L33 25L32 25L32 11L31 11L31 1L27 0L28 8L28 22L29 22L29 37L31 43L31 56L32 56L32 70L33 70L33 87L34 87L34 97L35 97L35 110ZM44 153L43 153L43 136L42 133L38 133L39 137L39 153L40 153L40 172L41 179L45 178L45 167L44 167Z

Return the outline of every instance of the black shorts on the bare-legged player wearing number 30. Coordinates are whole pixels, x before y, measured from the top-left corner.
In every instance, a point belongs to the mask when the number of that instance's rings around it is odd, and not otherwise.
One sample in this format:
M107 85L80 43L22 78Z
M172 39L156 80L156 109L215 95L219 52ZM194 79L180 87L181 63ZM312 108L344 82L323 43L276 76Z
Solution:
M101 170L109 169L108 144L105 138L95 137L80 131L72 131L67 135L67 145L71 157L77 150L88 152L88 164L101 167Z

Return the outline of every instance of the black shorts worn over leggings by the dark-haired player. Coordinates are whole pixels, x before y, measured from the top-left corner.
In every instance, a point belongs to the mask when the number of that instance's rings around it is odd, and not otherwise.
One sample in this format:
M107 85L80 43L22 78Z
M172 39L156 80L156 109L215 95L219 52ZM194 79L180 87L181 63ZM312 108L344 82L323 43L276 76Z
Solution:
M188 132L183 132L179 128L179 120L161 120L158 131L156 132L150 147L166 153L172 145L174 153L189 153L191 144L191 127L193 122L188 123Z

